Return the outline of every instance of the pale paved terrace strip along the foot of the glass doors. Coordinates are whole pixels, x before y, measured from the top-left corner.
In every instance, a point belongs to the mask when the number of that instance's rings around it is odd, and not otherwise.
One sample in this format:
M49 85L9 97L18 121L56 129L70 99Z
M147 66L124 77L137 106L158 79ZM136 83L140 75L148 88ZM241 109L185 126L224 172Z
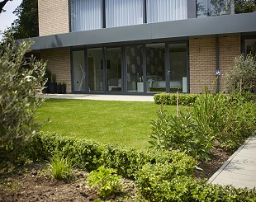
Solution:
M94 101L154 101L154 96L94 95L94 94L40 94L45 98L77 99Z

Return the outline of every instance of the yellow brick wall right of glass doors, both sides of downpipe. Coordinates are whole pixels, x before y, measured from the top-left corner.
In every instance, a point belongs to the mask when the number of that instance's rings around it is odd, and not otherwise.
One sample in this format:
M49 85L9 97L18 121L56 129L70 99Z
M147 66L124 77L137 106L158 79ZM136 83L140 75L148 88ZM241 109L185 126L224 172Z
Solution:
M225 92L225 73L234 67L235 56L241 53L240 35L219 37L220 92ZM216 92L216 37L189 40L190 92Z

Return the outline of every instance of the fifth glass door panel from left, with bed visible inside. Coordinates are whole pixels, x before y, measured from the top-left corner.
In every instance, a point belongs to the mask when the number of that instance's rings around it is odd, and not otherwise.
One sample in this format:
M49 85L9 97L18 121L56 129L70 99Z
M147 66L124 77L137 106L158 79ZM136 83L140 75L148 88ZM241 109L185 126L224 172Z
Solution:
M165 44L146 45L147 92L165 92Z

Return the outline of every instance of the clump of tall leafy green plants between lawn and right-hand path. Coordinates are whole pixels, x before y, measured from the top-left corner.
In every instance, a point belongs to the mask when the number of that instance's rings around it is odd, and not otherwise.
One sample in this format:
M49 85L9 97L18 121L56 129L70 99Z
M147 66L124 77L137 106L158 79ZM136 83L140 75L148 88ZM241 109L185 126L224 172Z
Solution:
M225 101L220 94L198 96L192 111L179 117L167 115L163 106L157 120L151 122L151 147L178 150L192 157L208 160L216 134L222 127Z

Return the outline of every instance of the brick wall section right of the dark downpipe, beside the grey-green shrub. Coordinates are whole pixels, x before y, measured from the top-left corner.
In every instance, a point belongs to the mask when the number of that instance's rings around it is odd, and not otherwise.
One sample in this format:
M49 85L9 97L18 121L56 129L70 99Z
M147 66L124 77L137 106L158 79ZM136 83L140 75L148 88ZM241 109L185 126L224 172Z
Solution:
M241 54L240 35L220 37L220 92L225 92L225 73L234 67L235 57Z

